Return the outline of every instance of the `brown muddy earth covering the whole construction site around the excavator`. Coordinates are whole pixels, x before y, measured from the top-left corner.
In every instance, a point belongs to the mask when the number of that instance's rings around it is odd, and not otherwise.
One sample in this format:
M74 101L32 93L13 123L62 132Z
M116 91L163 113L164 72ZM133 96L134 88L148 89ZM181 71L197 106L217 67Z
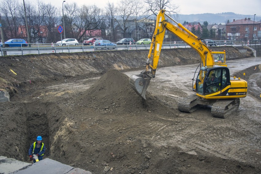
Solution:
M227 60L252 57L250 49L226 50ZM239 111L214 118L210 108L177 110L178 86L151 83L147 105L122 72L142 70L147 51L96 51L1 58L0 155L28 161L37 135L45 157L98 173L260 173L260 91L257 64L233 75L253 81ZM199 63L191 48L163 50L159 67ZM145 61L144 61L145 60ZM186 66L184 66L184 69ZM13 74L13 70L17 75ZM178 72L177 72L178 73ZM193 77L193 76L192 76ZM191 82L192 83L192 82ZM243 104L243 105L242 105ZM111 170L107 171L107 168ZM104 168L106 171L104 171Z

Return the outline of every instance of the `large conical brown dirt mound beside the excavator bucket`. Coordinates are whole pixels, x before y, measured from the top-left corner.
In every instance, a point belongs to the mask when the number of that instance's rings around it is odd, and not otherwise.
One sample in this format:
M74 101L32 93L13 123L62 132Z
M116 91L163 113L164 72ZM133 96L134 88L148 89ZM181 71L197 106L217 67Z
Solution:
M146 93L147 101L135 93L129 85L129 77L118 70L109 70L88 90L81 93L74 101L88 108L117 113L154 112L157 114L174 114L150 93ZM155 100L156 99L156 100Z

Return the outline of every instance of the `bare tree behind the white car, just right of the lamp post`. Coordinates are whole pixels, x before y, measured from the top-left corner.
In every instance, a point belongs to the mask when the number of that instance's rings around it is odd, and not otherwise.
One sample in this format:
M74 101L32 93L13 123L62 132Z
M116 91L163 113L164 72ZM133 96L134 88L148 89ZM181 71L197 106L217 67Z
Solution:
M64 6L65 9L65 26L66 26L66 36L68 38L76 38L77 36L77 28L75 28L74 24L77 21L77 16L79 16L79 8L77 3L70 3Z

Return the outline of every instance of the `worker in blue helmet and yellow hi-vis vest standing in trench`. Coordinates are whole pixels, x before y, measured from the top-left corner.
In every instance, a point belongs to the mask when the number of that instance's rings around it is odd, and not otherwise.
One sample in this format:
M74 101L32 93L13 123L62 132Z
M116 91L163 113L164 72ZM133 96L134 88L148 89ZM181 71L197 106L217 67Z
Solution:
M44 146L44 143L42 142L42 137L38 136L36 138L36 142L32 143L32 145L28 151L30 161L33 160L33 163L36 162L36 160L33 158L33 154L38 156L39 161L42 160L43 156L44 156L44 152L45 152L45 146Z

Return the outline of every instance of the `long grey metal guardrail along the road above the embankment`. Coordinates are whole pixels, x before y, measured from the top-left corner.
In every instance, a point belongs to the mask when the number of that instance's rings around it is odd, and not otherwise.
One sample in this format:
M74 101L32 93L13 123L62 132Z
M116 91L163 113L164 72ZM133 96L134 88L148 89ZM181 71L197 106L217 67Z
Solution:
M234 40L226 40L220 41L215 40L217 42L217 46L244 46L244 45L261 45L260 42L255 41L254 43L247 41L234 41ZM28 44L29 45L29 44ZM169 48L180 48L180 47L190 47L184 42L163 42L162 49ZM79 43L79 45L66 45L66 46L56 46L55 44L30 44L30 47L0 47L1 55L3 56L3 51L7 51L8 55L24 55L24 54L44 54L44 53L59 53L59 52L84 52L84 51L97 51L97 50L130 50L130 49L149 49L150 44L144 45L116 45L115 46L93 46L93 45L84 45L84 43ZM19 52L19 53L17 53Z

